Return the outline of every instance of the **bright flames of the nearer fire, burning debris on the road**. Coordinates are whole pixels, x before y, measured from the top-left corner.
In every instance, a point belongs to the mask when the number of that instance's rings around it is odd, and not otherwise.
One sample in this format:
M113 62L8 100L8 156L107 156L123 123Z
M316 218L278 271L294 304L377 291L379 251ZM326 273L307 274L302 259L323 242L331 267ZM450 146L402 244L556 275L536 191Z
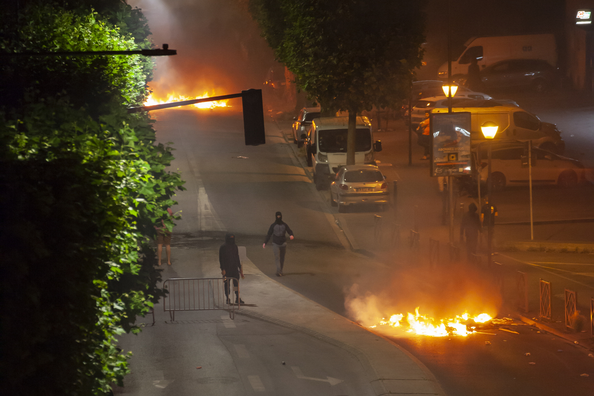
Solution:
M401 323L402 319L404 319L404 315L398 313L390 316L390 319L382 318L378 324L368 327L405 327L405 325ZM463 337L466 337L467 335L476 332L474 329L476 328L476 324L485 323L491 319L491 315L488 315L487 313L481 313L480 315L471 317L468 312L465 312L462 315L456 315L455 318L435 320L434 318L428 318L426 315L421 315L419 313L419 308L417 307L415 313L409 312L406 315L406 322L408 325L406 331L416 335L430 335L432 337L445 337L447 335L462 335ZM470 329L468 327L470 327Z

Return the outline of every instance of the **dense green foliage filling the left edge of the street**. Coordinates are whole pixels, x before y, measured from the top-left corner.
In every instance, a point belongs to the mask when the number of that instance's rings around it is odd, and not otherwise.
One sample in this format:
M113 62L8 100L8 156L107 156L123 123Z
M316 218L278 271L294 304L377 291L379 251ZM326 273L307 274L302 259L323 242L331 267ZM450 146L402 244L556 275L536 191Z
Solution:
M31 1L0 48L89 51L150 46L146 20L119 1ZM0 65L0 227L4 391L106 394L128 372L116 336L137 332L162 291L153 225L183 189L165 170L146 115L150 59L14 58Z

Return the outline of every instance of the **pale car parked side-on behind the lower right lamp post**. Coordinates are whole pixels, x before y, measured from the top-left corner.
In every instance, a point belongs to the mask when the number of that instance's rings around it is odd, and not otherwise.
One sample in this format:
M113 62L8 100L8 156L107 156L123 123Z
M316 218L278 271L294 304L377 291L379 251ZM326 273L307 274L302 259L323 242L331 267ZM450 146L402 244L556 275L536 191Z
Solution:
M479 171L481 183L488 179L488 146L491 144L491 178L494 190L506 186L528 186L527 145L521 142L484 142L473 149L475 156L480 150ZM545 150L532 147L532 184L552 184L571 188L585 180L584 165L576 159L566 158ZM522 165L522 162L525 165Z

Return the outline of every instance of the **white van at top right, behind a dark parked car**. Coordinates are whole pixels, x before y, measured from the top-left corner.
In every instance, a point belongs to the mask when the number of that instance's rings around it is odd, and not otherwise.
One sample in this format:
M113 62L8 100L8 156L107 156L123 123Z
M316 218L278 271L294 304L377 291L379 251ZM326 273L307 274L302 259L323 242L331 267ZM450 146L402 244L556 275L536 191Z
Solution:
M481 69L506 59L543 59L557 67L557 46L553 34L523 34L521 36L472 37L465 43L462 55L451 62L454 81L465 78L470 61L478 59ZM438 69L442 80L447 79L447 62Z

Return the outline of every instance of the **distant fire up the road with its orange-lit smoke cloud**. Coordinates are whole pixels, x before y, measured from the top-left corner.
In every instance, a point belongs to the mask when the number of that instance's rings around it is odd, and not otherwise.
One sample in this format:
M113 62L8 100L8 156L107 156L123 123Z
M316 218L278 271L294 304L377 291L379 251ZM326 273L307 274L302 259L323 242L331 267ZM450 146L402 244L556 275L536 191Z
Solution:
M149 84L157 97L225 95L261 89L279 68L244 2L239 0L130 0L149 20L151 40L178 55L155 58Z

